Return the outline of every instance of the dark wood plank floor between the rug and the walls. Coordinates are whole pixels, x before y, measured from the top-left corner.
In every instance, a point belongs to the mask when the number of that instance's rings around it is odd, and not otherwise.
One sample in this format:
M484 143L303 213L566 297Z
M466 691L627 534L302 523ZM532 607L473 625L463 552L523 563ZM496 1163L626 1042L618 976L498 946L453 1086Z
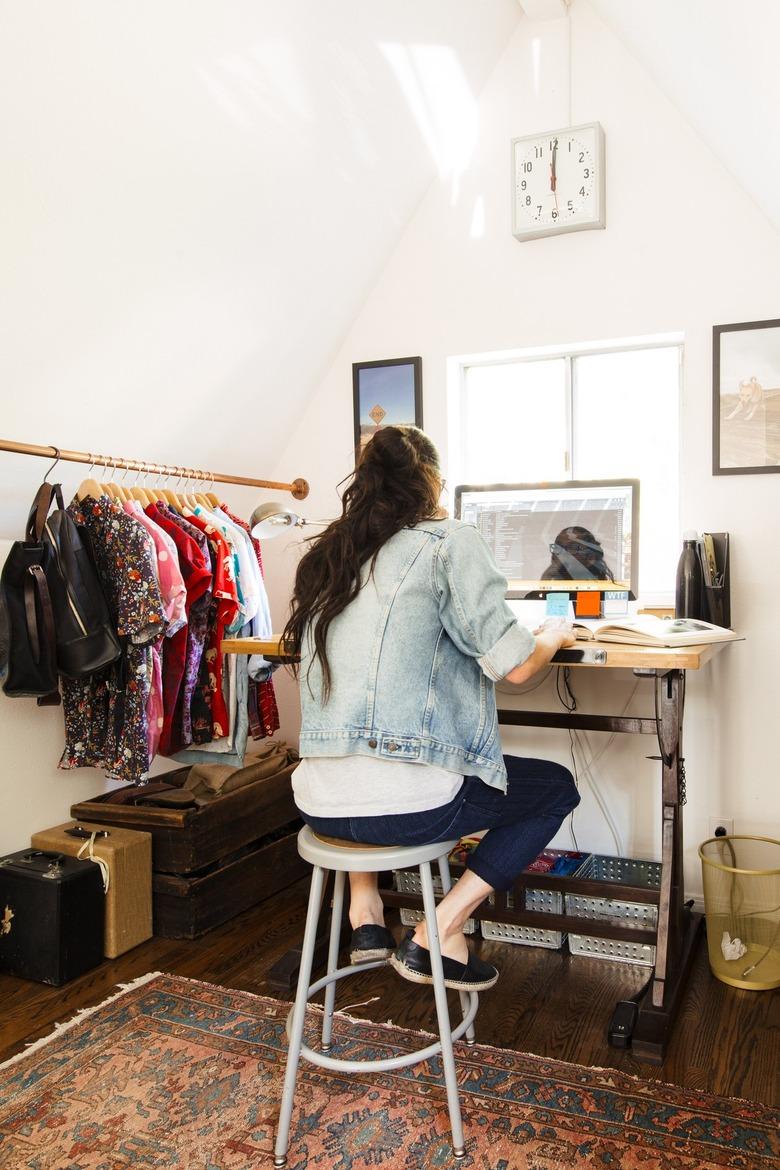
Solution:
M267 973L299 941L305 899L306 883L298 882L202 938L150 940L64 987L0 976L0 1060L78 1009L98 1004L118 983L149 971L290 998L269 984ZM398 928L393 916L388 922ZM780 1106L780 994L719 983L710 975L704 944L661 1067L640 1064L605 1039L615 1002L641 986L646 969L532 947L486 941L477 945L502 971L497 986L481 999L481 1042ZM378 998L366 1004L372 997ZM351 1014L367 1019L421 1028L433 1023L433 996L421 994L389 969L344 980L337 1006L347 1005Z

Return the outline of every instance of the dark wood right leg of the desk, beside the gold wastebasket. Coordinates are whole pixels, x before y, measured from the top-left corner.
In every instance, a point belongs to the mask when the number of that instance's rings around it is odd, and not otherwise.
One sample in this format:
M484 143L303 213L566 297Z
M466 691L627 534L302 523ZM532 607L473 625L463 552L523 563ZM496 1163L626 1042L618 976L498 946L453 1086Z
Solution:
M702 915L690 914L683 904L684 672L658 675L655 688L663 805L658 936L655 971L640 1004L631 1048L640 1060L661 1064L693 959Z

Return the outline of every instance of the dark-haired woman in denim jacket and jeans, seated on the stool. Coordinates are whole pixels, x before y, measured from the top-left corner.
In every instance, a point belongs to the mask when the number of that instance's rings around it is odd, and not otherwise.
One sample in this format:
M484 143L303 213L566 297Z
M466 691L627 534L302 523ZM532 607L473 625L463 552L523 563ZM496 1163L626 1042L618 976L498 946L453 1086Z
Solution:
M481 991L495 966L463 925L513 880L579 804L571 772L502 757L493 683L526 682L571 627L519 626L482 536L439 507L439 454L416 427L367 443L343 511L298 565L284 639L299 654L295 799L315 832L421 845L488 830L436 908L449 987ZM389 958L432 983L426 923L395 949L377 874L350 874L352 962Z

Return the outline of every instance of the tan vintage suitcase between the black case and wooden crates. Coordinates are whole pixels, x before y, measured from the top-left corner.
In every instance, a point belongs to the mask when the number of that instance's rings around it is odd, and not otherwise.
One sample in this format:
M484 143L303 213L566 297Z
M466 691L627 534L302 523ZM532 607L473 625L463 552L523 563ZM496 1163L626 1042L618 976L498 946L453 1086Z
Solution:
M151 834L71 820L35 833L32 844L36 849L76 856L84 846L89 847L94 832L97 835L92 852L105 861L109 872L103 954L116 958L152 937Z

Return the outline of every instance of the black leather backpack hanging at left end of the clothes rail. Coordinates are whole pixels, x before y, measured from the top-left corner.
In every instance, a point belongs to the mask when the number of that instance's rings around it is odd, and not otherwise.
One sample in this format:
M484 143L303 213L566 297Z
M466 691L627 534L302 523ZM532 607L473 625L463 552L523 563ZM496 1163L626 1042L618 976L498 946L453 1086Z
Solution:
M83 679L122 654L89 535L63 509L58 483L39 488L26 539L12 545L0 587L9 627L7 695L56 703L57 674Z

